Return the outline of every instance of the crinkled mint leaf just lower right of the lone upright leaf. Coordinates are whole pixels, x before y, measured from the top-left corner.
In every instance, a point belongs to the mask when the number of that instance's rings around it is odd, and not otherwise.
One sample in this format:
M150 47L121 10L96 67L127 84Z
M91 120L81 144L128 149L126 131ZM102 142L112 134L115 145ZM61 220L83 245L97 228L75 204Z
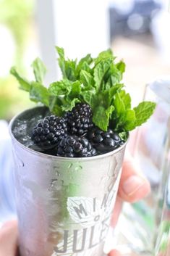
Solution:
M58 82L51 83L48 91L55 96L66 95L72 91L72 82L69 80L60 80Z

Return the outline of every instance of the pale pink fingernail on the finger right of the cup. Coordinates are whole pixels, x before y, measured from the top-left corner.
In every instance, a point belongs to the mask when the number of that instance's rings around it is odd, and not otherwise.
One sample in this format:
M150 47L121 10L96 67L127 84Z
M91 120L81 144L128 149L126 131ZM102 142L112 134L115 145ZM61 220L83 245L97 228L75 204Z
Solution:
M123 191L127 196L132 196L137 190L143 186L145 183L145 178L141 176L130 176L127 181L123 183Z

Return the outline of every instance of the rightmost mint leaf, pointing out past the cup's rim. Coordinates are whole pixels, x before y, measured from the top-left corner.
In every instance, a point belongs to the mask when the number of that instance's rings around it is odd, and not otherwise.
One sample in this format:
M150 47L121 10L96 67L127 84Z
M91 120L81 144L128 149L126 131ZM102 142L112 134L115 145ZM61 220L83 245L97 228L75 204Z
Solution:
M137 107L134 108L136 115L136 126L140 126L148 120L150 115L156 108L156 103L154 102L141 102Z

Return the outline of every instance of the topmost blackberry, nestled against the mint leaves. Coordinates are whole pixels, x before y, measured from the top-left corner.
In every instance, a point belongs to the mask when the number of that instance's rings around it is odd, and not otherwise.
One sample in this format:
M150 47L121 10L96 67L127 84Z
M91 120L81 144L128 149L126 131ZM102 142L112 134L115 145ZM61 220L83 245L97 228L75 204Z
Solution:
M72 111L65 114L69 133L83 136L93 127L92 110L88 104L76 104Z

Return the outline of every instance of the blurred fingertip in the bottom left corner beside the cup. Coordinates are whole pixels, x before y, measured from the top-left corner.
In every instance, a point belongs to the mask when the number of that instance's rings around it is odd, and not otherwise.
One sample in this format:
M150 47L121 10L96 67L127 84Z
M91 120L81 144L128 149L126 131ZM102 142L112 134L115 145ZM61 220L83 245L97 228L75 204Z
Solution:
M0 229L0 256L17 256L17 220L10 220Z

